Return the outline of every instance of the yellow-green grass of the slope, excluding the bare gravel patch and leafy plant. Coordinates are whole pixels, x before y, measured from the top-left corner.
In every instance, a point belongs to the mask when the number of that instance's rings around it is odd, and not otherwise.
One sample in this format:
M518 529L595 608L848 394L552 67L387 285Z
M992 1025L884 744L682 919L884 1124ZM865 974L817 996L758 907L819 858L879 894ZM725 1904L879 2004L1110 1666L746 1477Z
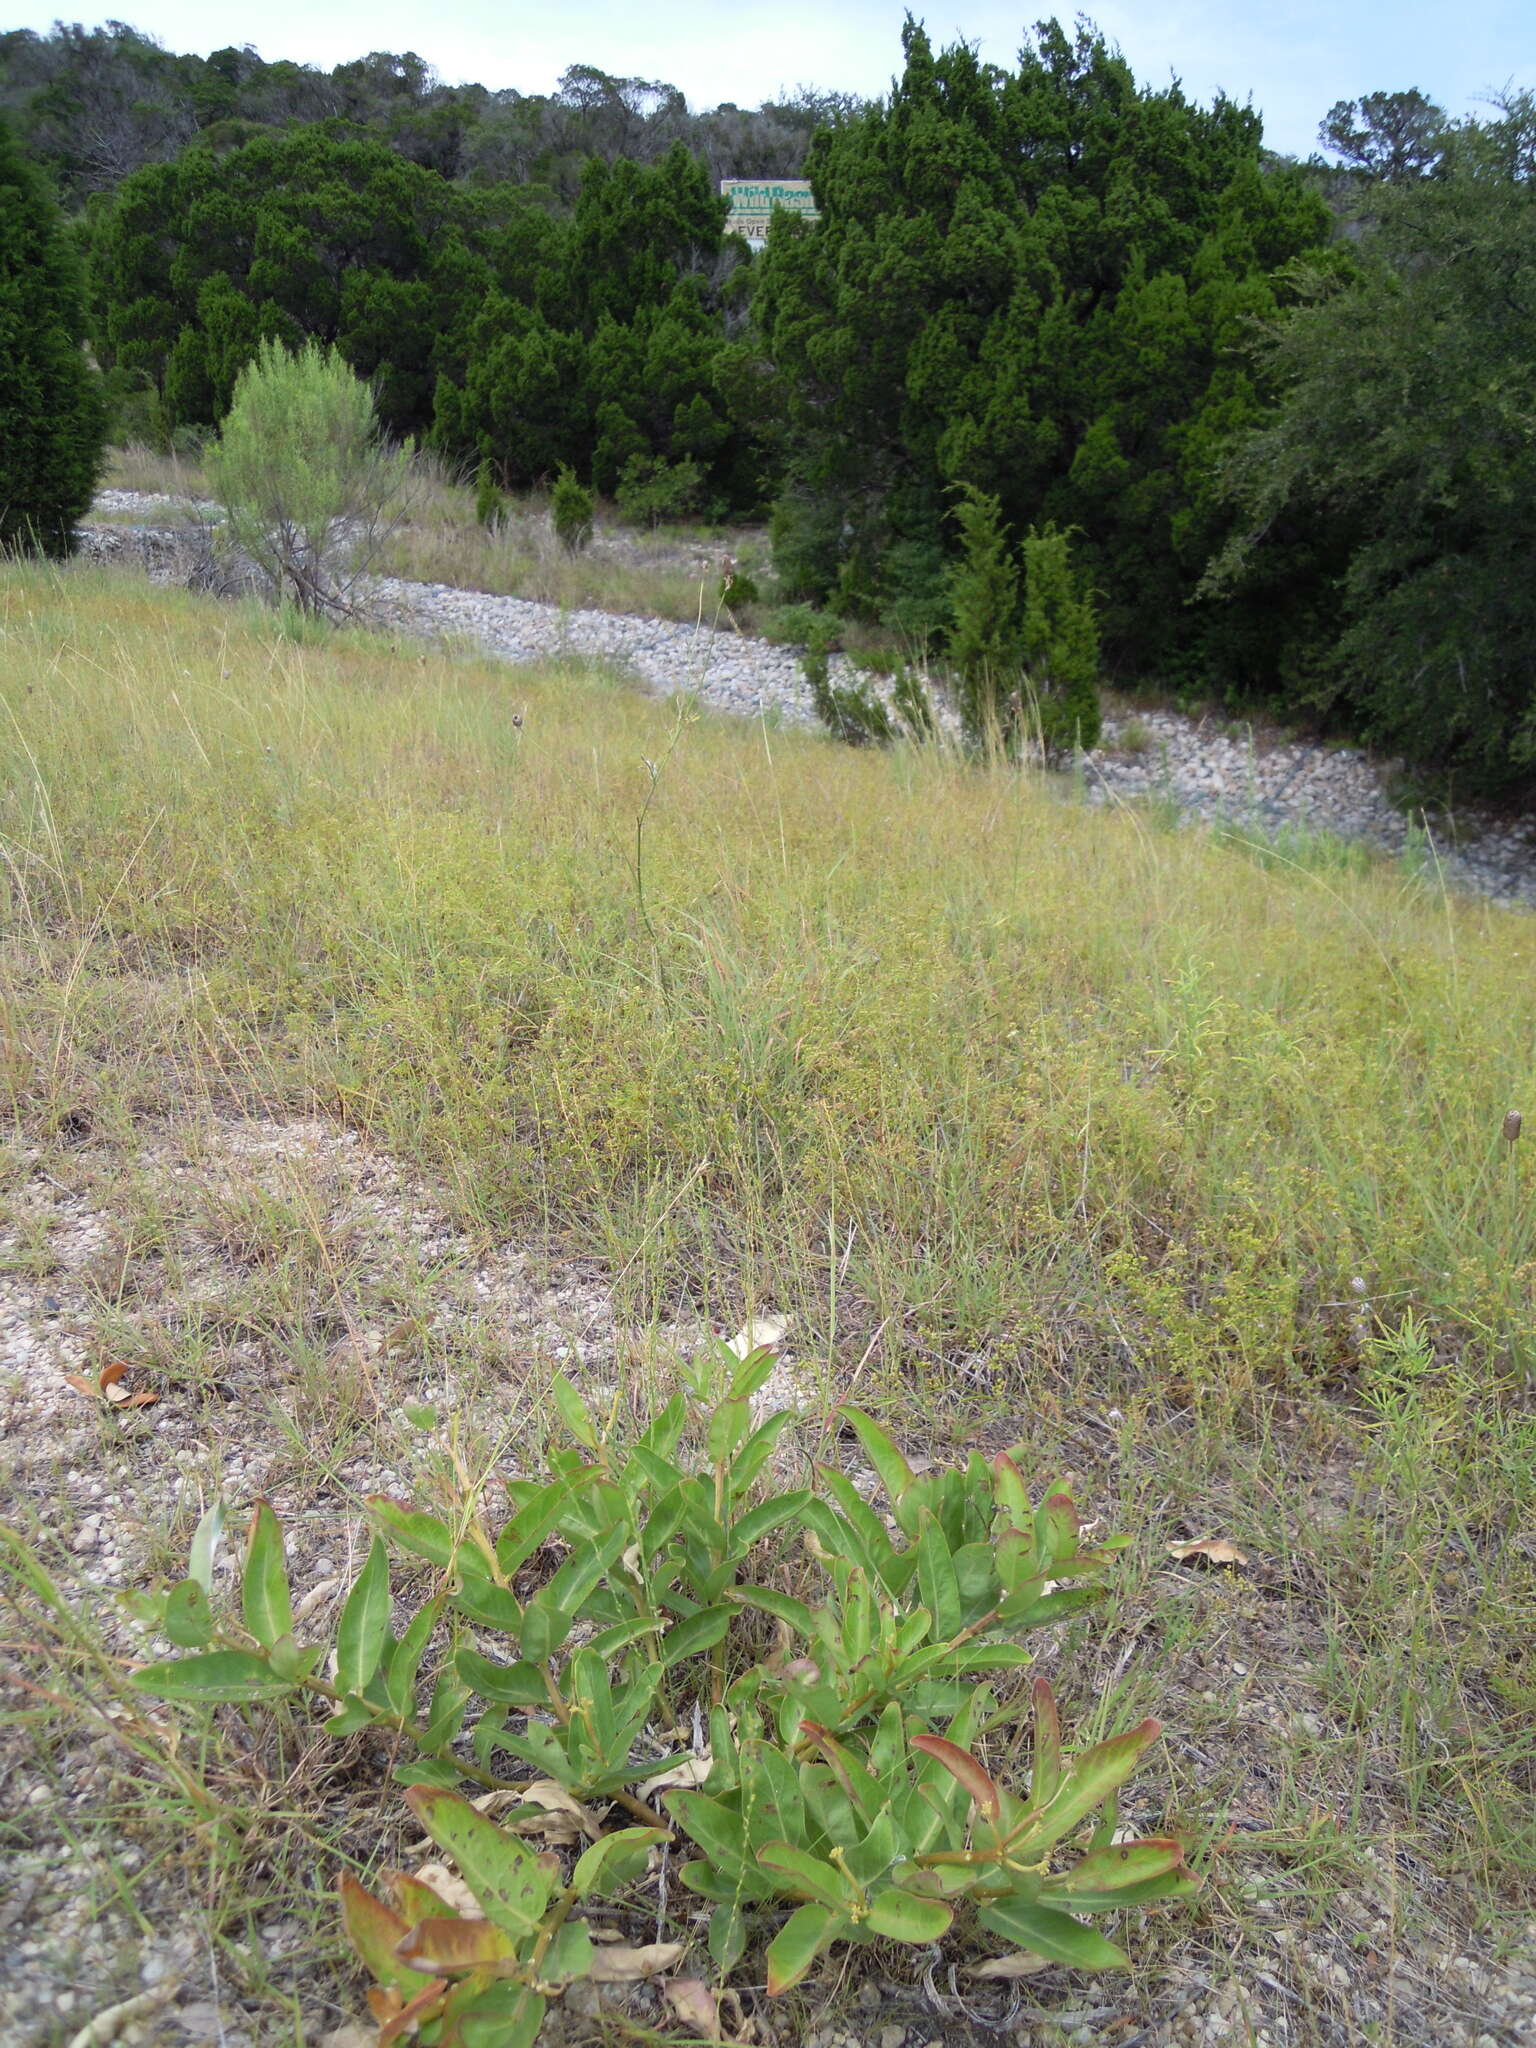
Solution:
M84 571L8 569L0 629L14 1145L340 1118L635 1329L772 1309L909 1444L1022 1436L1137 1532L1063 1683L1176 1731L1196 1950L1323 1931L1264 1950L1292 2040L1358 2038L1329 1944L1497 1956L1530 920ZM1432 1352L1362 1343L1409 1307ZM1169 1571L1217 1528L1247 1575ZM1415 1997L1378 2038L1444 2038Z

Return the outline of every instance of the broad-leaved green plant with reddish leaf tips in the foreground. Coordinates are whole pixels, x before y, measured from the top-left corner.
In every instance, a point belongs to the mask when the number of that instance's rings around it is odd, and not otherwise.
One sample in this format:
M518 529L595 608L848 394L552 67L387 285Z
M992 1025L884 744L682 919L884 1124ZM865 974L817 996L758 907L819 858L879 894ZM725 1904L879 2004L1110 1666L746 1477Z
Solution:
M721 1346L684 1368L684 1391L629 1448L557 1380L567 1440L547 1446L547 1477L508 1485L496 1536L467 1483L442 1516L369 1503L373 1544L334 1638L301 1636L266 1503L246 1538L238 1620L211 1602L217 1509L188 1577L141 1595L182 1655L135 1671L139 1692L205 1708L307 1700L332 1735L373 1729L406 1751L393 1776L485 1917L444 1925L453 1913L420 1880L397 1882L393 1907L344 1882L346 1931L391 2015L422 1999L420 2023L473 2013L477 2040L532 2042L547 1999L592 1968L582 1903L623 1894L674 1831L692 1847L682 1884L713 1907L721 1974L745 1954L758 1909L782 1919L793 1907L766 1950L772 1995L840 1942L930 1946L961 1905L1008 1948L1116 1966L1122 1950L1079 1915L1192 1890L1178 1841L1112 1845L1116 1788L1157 1722L1067 1755L1044 1681L1020 1710L985 1683L1030 1663L1022 1634L1104 1597L1124 1538L1085 1546L1065 1493L1036 1507L1016 1452L918 1475L852 1407L842 1413L881 1509L836 1466L764 1493L797 1419L754 1411L772 1364L772 1352L737 1360ZM528 1589L551 1544L561 1563ZM434 1573L401 1634L393 1554L408 1579ZM780 1638L766 1661L762 1618ZM1024 1710L1032 1776L1018 1796L977 1745ZM657 1806L645 1782L696 1757L637 1761L641 1737L692 1722L709 1726L707 1774ZM498 1776L494 1757L526 1776ZM625 1817L569 1878L518 1841L520 1810L498 1827L455 1790L516 1796L530 1778ZM444 1980L432 1962L449 1956Z

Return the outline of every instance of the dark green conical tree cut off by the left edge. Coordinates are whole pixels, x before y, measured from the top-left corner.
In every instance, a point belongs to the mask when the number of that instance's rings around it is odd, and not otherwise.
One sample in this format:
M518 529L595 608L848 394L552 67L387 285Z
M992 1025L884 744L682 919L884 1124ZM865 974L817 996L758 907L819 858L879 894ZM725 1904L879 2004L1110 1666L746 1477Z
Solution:
M106 442L57 209L0 121L0 553L68 555Z

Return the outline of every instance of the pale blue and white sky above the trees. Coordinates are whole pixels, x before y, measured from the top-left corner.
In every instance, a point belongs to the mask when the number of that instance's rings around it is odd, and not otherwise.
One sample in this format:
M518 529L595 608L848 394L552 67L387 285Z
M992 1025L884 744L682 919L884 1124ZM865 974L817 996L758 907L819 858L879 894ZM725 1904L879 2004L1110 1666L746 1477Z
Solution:
M913 0L936 45L965 39L1012 66L1040 0ZM1061 4L1067 20L1073 0ZM549 92L571 63L666 80L692 106L758 106L782 86L872 96L901 68L901 0L133 0L113 8L168 49L207 53L254 43L264 57L334 66L371 49L414 49L449 82ZM1178 76L1190 98L1217 92L1264 115L1274 150L1309 156L1329 106L1362 92L1417 86L1452 115L1503 86L1536 88L1532 0L1102 0L1085 6L1137 78ZM45 31L47 12L14 27Z

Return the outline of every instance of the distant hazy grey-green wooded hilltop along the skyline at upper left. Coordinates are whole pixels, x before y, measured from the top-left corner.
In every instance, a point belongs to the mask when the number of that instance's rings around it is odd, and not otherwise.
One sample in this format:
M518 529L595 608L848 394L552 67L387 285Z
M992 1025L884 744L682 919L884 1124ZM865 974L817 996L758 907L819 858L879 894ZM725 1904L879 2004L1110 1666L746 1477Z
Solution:
M229 150L317 121L367 129L451 182L518 184L559 209L592 160L651 164L674 143L715 180L799 176L813 133L858 109L852 94L801 88L758 109L694 113L676 86L590 63L539 94L446 86L416 51L373 51L330 72L266 63L248 45L176 55L123 23L0 35L0 115L66 209L188 143Z

